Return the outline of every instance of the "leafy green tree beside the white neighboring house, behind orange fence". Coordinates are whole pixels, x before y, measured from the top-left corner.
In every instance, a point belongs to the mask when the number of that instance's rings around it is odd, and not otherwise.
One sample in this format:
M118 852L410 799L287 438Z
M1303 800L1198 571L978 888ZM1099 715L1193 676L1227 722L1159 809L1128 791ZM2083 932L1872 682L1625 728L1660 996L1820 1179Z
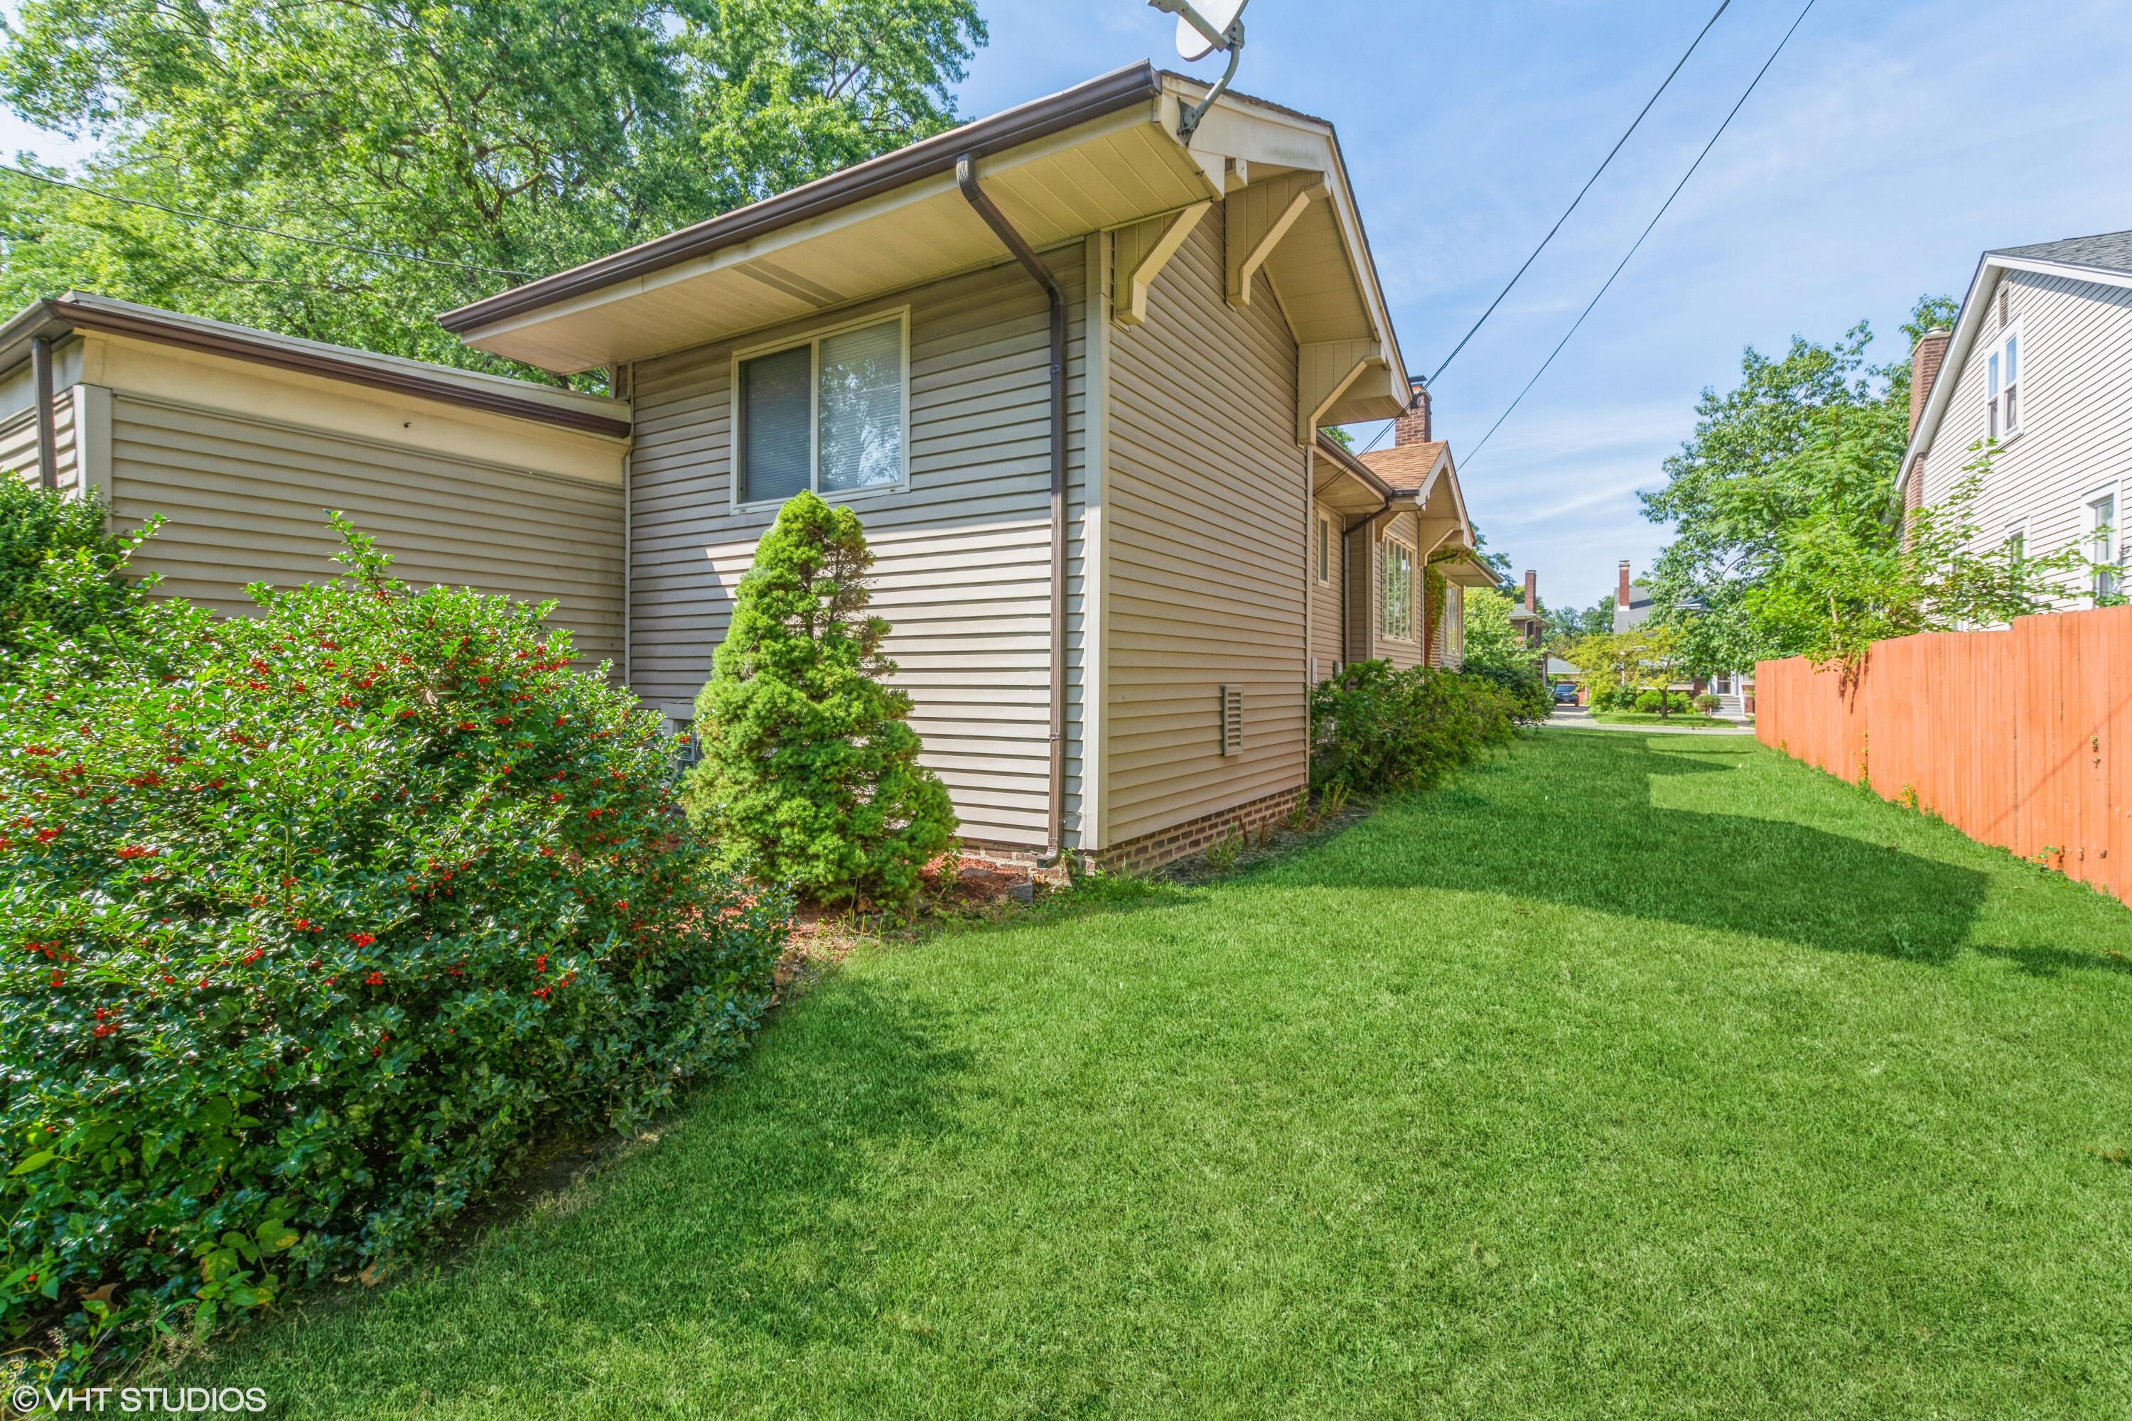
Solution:
M1953 320L1955 303L1921 298L1904 324L1915 341ZM1895 475L1908 443L1910 364L1870 366L1863 322L1834 345L1795 337L1772 360L1748 347L1740 386L1703 390L1695 437L1665 460L1667 486L1644 494L1644 513L1674 524L1652 569L1659 620L1680 622L1695 671L1729 671L1802 648L1772 646L1742 599L1767 582L1791 530L1808 518L1891 526ZM1693 618L1674 607L1703 603Z

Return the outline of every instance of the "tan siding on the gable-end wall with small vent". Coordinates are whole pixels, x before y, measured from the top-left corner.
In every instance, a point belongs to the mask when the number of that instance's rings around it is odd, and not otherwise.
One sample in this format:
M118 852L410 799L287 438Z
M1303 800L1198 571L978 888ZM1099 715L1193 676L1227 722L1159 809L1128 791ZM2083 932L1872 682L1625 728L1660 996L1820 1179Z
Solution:
M1296 343L1264 275L1224 300L1202 222L1113 334L1107 842L1296 788L1305 763L1305 530ZM1220 686L1243 686L1243 748Z

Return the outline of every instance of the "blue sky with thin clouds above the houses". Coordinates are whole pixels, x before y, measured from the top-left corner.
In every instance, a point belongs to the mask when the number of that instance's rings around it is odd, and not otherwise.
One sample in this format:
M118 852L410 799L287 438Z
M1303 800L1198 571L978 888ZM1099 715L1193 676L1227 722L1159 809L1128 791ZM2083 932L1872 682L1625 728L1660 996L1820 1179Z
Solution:
M1716 0L1360 4L1254 0L1237 85L1332 119L1407 360L1428 371L1516 271ZM1693 162L1804 0L1733 0L1644 128L1437 383L1465 454ZM1089 75L1177 64L1141 0L981 0L983 115ZM11 6L9 6L11 9ZM1213 62L1192 66L1217 72ZM1923 292L1976 254L2132 228L2123 0L1819 0L1554 369L1473 460L1467 503L1552 603L1588 605L1665 528L1637 488L1729 386L1748 343L1859 317L1897 356ZM64 143L0 115L0 151ZM1358 428L1364 439L1373 428Z

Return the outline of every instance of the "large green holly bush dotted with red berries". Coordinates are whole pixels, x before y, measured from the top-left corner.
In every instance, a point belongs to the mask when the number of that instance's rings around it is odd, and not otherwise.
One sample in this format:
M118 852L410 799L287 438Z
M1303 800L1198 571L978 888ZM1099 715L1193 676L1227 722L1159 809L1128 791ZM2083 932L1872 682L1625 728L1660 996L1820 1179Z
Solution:
M770 1001L782 908L706 863L659 718L335 522L330 584L0 686L0 1317L77 1359L388 1265Z

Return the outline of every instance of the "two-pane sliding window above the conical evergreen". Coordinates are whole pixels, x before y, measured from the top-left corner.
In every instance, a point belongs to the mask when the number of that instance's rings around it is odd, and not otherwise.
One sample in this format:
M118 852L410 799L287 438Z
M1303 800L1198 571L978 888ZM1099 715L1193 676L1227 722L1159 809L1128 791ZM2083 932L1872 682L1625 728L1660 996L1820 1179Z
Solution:
M908 469L908 313L733 362L733 503L895 488Z

